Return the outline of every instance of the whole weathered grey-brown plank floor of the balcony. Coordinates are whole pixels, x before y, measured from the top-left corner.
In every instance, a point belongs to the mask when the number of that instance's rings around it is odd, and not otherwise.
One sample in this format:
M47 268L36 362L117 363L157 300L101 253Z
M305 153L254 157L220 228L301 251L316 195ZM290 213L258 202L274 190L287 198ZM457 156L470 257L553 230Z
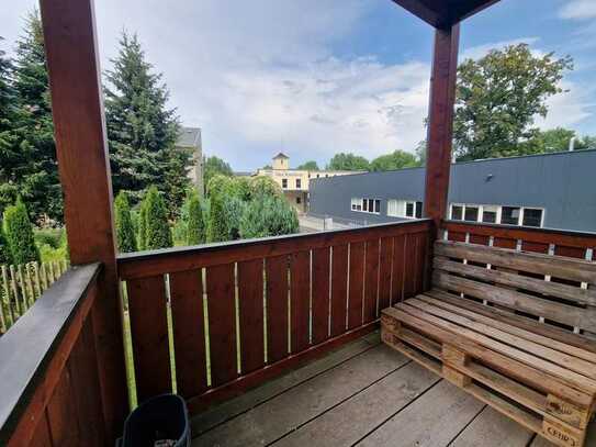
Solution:
M196 416L192 431L193 447L551 446L376 333Z

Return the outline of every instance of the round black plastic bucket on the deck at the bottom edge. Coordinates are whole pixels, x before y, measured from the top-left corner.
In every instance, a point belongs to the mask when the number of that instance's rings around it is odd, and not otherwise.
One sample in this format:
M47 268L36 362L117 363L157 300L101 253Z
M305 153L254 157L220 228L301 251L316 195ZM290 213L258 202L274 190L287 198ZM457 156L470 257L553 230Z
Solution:
M176 394L151 398L133 411L124 423L116 447L190 447L187 404Z

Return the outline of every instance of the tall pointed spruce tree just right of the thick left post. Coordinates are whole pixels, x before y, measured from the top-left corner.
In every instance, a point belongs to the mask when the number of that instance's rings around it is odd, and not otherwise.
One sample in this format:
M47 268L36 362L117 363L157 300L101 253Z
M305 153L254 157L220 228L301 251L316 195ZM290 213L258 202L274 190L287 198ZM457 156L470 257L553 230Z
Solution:
M192 154L177 148L180 132L169 91L146 60L136 34L124 32L120 53L105 72L105 116L114 191L126 190L137 202L155 185L173 215L184 199Z

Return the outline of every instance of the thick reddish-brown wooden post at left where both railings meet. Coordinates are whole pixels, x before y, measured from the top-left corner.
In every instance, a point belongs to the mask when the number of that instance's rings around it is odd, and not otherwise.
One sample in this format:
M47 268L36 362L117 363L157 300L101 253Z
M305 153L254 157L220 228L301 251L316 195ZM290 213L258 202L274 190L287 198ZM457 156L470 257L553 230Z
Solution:
M113 440L128 405L93 0L41 0L41 11L70 260L103 264L92 319L105 431Z

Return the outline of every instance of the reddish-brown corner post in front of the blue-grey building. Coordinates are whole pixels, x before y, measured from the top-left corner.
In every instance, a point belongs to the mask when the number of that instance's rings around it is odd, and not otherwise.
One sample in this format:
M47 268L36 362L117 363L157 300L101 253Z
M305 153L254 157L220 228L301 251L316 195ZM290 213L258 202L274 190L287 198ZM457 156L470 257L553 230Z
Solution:
M436 228L447 214L459 36L459 24L437 29L435 33L424 206L425 215L435 221Z

